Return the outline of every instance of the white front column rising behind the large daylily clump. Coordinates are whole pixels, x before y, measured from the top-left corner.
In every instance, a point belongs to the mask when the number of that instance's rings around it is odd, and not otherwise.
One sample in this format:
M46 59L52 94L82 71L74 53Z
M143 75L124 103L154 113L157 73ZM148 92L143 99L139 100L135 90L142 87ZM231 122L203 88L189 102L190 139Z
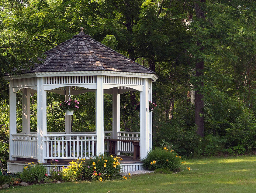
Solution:
M104 153L103 76L97 76L96 89L96 154Z

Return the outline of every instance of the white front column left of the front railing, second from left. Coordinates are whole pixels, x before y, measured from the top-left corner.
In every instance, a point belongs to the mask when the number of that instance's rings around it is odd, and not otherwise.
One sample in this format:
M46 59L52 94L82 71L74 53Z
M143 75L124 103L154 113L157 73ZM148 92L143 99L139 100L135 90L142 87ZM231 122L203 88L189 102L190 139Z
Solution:
M44 77L37 77L37 161L44 163L46 145L43 136L47 134L46 126L46 90L43 90ZM40 160L40 161L39 161Z

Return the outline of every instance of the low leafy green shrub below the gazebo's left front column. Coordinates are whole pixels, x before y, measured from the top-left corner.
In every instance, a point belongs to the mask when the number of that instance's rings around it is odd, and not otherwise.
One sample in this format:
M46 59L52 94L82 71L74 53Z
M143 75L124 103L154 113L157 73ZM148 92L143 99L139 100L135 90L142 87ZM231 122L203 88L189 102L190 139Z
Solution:
M42 183L47 178L47 169L42 164L28 163L22 172L18 173L18 177L22 182Z

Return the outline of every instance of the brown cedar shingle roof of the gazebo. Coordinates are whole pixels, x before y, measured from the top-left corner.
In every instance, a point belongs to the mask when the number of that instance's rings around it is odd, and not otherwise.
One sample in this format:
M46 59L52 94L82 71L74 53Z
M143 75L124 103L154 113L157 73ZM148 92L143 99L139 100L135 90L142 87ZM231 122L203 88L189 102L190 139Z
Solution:
M50 49L46 59L22 73L106 70L154 73L131 59L97 42L84 32Z

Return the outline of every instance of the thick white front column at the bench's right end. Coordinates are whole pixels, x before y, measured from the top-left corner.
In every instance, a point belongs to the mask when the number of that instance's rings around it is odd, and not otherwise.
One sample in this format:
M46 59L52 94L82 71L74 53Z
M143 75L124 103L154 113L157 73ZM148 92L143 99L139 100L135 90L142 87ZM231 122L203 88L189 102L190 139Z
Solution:
M148 111L148 79L143 79L143 91L140 91L140 160L149 151L149 111Z

